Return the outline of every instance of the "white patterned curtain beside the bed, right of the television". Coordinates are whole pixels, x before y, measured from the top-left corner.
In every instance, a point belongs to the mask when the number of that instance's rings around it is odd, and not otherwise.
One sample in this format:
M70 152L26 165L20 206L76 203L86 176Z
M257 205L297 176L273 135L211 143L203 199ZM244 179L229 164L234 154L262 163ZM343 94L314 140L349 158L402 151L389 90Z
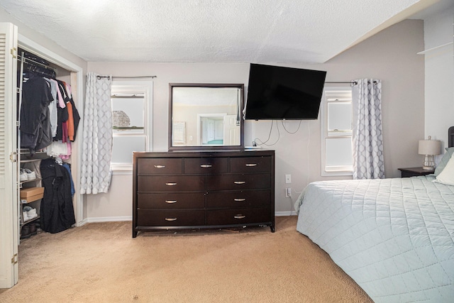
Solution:
M382 82L358 79L353 86L353 179L384 178Z

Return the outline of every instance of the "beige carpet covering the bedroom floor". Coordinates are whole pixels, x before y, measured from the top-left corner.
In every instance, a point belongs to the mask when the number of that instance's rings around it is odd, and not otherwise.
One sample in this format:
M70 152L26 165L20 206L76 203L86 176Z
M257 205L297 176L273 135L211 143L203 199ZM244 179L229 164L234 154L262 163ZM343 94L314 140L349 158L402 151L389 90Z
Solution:
M0 302L372 302L297 217L243 231L139 233L131 222L39 233Z

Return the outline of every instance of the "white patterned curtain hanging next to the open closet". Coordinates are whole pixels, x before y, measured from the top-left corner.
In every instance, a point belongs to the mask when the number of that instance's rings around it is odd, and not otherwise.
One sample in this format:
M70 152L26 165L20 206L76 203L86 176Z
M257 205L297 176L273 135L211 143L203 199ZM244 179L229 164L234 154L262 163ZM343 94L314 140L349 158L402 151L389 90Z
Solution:
M112 77L87 74L82 138L81 193L108 192L112 158Z

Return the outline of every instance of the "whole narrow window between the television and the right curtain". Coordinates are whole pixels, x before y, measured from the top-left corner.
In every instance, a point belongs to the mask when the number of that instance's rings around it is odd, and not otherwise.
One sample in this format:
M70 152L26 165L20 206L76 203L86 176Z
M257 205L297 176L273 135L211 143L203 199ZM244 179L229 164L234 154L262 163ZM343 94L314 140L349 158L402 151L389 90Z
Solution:
M326 87L321 105L321 175L352 175L351 87Z

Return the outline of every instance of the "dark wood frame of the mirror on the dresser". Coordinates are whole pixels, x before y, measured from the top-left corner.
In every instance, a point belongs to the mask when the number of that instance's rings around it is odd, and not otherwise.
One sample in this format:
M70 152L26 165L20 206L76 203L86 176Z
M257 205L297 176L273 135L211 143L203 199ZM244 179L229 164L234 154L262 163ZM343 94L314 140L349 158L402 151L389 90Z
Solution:
M240 145L218 145L218 146L173 146L172 145L172 116L173 116L173 88L174 87L207 87L207 88L223 88L236 87L240 89ZM169 84L169 150L238 150L244 148L244 84L218 84L218 83L170 83Z

